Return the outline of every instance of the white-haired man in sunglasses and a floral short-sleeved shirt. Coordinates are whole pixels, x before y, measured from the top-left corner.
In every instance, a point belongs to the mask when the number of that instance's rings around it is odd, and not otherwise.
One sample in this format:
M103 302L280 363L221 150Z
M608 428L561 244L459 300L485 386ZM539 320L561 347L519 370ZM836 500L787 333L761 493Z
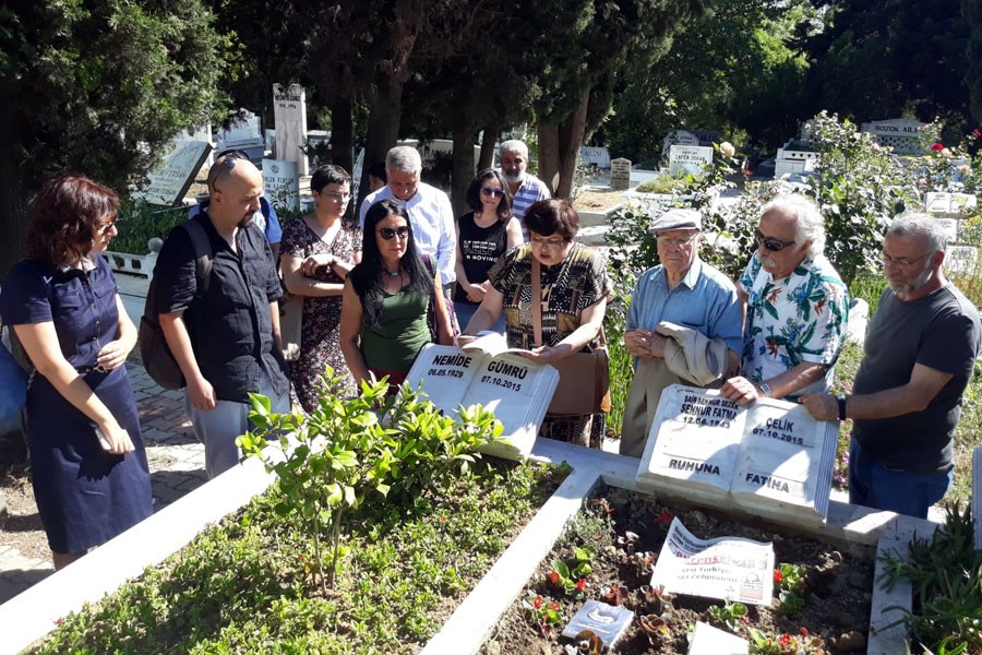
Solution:
M764 205L757 250L740 278L747 296L742 372L721 393L739 405L824 392L846 337L849 293L825 258L813 202L782 195Z

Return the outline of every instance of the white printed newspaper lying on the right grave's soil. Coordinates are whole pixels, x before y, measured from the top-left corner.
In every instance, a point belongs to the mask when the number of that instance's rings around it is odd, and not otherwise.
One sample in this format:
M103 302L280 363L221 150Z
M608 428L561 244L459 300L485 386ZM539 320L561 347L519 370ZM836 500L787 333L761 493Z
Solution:
M770 605L774 546L741 537L699 539L672 520L651 574L671 594Z

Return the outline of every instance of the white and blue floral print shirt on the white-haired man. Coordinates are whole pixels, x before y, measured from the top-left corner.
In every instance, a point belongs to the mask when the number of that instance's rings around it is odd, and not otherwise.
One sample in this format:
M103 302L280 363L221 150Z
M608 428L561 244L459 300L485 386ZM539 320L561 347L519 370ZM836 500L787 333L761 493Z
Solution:
M755 383L803 361L828 367L818 380L786 400L827 391L846 338L849 290L824 257L804 260L791 275L774 277L755 252L740 278L750 297L743 332L743 374Z

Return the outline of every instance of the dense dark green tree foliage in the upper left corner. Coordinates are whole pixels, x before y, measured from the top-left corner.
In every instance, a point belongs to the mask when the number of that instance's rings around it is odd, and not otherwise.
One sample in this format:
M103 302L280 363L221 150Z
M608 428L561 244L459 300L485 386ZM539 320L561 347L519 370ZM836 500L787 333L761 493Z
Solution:
M15 0L0 8L0 274L49 177L118 190L217 105L221 67L200 0Z

